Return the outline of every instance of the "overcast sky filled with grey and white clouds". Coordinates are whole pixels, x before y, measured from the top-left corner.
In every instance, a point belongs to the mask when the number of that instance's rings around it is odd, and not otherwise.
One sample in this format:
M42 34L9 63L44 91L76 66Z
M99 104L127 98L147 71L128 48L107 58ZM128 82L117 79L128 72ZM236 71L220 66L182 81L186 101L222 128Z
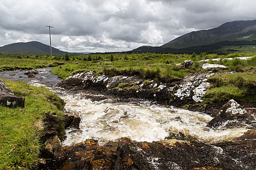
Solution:
M129 51L256 19L255 0L0 0L0 46L39 41L62 51Z

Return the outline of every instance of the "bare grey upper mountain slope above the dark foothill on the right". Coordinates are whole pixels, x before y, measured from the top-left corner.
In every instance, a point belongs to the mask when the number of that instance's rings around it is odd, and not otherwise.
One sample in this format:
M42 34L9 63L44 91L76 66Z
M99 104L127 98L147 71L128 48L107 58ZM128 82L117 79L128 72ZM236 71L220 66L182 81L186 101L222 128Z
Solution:
M184 34L160 47L181 49L228 40L256 40L256 19L227 22L217 28Z

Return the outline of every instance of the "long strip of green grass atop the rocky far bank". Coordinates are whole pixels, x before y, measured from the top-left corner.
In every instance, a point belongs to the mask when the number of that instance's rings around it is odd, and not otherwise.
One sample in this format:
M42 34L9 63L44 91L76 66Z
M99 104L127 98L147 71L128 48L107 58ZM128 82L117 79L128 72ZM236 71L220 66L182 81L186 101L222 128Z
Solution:
M92 58L101 58L98 63L95 61L74 62L65 66L53 68L52 73L62 79L79 72L94 70L96 75L139 75L143 79L155 79L161 82L172 82L180 80L189 73L197 73L202 64L194 65L192 69L175 66L190 58L188 54L115 54L113 61L110 55L91 55ZM79 60L75 60L78 62Z

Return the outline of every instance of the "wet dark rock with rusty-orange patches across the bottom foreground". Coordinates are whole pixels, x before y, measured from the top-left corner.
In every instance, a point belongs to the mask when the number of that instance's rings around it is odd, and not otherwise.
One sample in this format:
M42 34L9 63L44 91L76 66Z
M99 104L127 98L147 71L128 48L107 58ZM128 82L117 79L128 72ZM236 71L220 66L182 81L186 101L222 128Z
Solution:
M44 170L254 170L256 131L232 141L205 144L169 139L137 142L129 138L99 145L87 139L64 147L59 158L41 165Z

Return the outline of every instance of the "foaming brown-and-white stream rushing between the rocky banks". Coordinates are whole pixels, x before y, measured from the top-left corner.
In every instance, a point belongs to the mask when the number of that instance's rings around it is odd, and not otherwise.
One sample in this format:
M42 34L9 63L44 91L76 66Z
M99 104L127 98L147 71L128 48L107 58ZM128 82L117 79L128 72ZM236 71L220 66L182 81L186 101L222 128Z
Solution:
M93 94L69 94L64 89L56 87L61 81L50 73L50 68L40 68L36 78L27 78L24 71L3 71L0 78L13 81L26 81L31 85L45 86L55 91L65 102L65 109L81 118L80 130L66 130L67 138L63 145L71 145L88 138L98 139L104 143L107 140L117 140L120 137L130 137L137 141L164 140L172 134L182 133L184 136L207 143L230 140L243 135L248 129L212 130L206 128L211 116L178 109L172 106L159 105L143 100L119 102L115 99L92 101ZM10 74L15 74L10 76Z

